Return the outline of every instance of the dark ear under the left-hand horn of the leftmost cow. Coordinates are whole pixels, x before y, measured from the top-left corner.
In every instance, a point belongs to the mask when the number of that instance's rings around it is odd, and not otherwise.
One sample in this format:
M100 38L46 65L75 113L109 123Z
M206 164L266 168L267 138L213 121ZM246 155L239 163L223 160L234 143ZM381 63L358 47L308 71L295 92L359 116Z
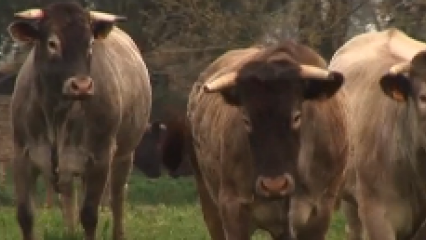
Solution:
M14 21L7 27L10 37L17 42L29 43L38 40L39 31L34 24Z

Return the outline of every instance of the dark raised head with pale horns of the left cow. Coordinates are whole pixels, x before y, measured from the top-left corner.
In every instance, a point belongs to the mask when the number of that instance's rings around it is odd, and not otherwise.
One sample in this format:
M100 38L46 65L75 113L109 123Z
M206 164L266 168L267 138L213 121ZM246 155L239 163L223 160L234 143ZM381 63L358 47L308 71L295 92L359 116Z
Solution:
M74 2L54 3L15 16L18 20L9 25L9 34L15 41L35 45L34 67L40 88L77 99L93 95L93 44L105 39L114 23L124 17L88 12Z

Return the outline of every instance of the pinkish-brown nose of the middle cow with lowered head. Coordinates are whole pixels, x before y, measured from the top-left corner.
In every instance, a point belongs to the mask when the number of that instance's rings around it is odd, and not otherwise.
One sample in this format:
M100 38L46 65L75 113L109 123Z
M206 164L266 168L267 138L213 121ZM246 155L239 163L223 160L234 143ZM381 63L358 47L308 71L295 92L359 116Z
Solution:
M290 174L277 177L259 176L256 181L257 193L264 197L285 196L294 190L294 180Z

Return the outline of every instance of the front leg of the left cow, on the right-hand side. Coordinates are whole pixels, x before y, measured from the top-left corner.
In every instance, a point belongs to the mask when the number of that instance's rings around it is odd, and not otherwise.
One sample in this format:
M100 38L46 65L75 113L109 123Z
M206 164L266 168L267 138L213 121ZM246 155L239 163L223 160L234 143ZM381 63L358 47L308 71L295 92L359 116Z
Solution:
M80 221L83 225L85 239L95 240L96 226L98 224L98 209L104 191L108 164L88 169L84 177L84 198L80 210Z

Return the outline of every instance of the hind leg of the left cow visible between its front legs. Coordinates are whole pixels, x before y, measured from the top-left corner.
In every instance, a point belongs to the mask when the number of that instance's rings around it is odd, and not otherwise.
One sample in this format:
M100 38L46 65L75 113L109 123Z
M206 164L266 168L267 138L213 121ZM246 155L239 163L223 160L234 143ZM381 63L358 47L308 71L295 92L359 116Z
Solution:
M69 233L74 233L76 225L76 194L73 181L61 189L61 210Z

